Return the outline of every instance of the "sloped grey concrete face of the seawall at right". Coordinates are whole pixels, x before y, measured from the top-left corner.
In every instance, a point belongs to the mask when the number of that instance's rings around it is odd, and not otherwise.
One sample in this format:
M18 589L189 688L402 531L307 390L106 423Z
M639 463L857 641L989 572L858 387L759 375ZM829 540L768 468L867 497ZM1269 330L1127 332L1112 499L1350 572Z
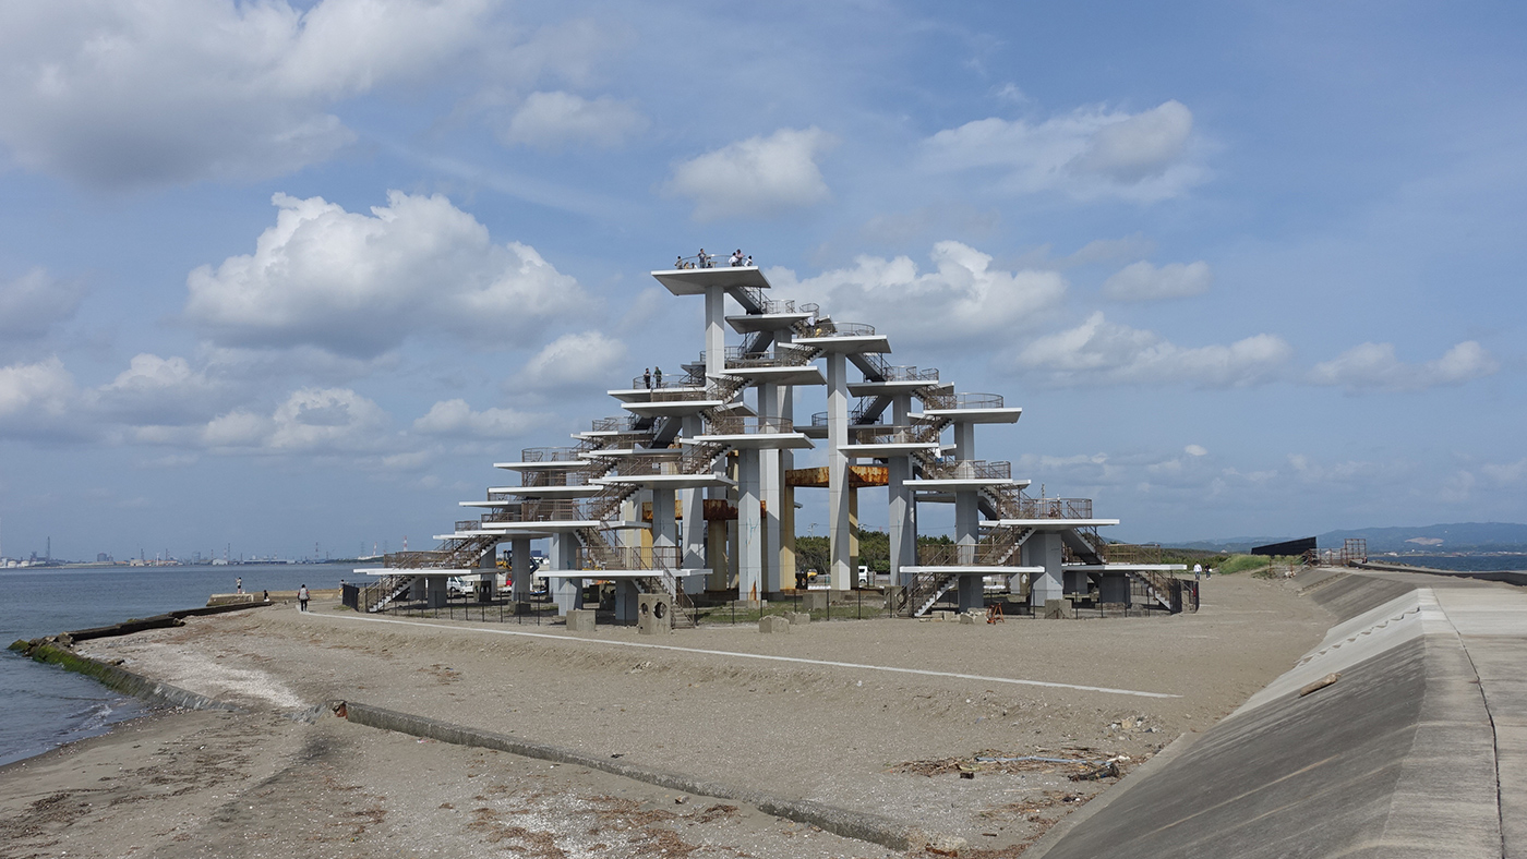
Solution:
M1434 592L1344 575L1312 598L1347 618L1319 647L1028 859L1500 857L1490 716Z

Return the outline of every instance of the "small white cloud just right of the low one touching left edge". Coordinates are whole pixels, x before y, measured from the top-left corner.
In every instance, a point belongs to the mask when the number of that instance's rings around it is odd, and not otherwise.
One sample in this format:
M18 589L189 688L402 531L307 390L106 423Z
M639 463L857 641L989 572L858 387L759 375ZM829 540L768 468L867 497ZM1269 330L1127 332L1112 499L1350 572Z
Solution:
M186 424L208 420L223 398L223 384L191 369L182 357L134 356L125 371L90 392L102 415L130 424Z

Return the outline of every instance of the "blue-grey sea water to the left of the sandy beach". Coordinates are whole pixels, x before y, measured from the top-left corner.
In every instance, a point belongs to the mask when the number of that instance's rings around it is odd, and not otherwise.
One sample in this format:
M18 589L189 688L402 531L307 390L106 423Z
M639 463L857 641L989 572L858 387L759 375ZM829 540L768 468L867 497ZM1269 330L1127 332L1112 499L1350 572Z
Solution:
M205 606L212 594L339 587L348 565L115 566L0 569L0 647L18 638ZM131 697L55 665L0 651L0 764L102 734L145 713Z

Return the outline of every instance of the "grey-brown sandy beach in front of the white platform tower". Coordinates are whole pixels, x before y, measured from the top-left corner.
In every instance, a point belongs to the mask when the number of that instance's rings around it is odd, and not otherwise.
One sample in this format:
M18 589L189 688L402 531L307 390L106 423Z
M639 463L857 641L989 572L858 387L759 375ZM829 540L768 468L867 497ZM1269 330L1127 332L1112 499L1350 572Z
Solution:
M960 856L1017 856L1116 778L977 755L1128 772L1330 626L1292 583L1220 577L1203 594L1199 613L1170 618L789 635L573 636L333 601L192 618L78 650L246 713L165 713L0 771L0 856L893 853L745 804L315 716L334 699L915 822L950 839L936 848L962 839Z

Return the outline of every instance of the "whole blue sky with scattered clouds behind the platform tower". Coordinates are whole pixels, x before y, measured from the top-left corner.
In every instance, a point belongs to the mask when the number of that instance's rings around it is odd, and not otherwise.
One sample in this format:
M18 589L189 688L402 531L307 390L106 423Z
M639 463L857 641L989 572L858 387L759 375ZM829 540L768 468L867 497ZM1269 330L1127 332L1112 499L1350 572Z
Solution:
M0 2L0 554L428 548L698 356L649 272L699 247L1022 406L977 455L1113 539L1524 522L1524 37L1489 2Z

